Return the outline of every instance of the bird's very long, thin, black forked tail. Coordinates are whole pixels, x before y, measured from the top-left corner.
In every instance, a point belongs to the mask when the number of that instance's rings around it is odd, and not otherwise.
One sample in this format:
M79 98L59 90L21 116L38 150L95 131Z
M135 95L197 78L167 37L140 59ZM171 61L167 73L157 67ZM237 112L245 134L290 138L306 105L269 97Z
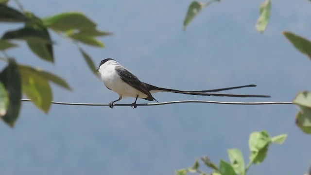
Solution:
M162 91L162 92L173 92L173 93L181 93L181 94L189 94L189 95L202 95L202 96L218 96L218 97L261 97L261 98L270 98L270 95L242 95L242 94L219 94L219 93L207 93L207 92L219 92L224 90L238 89L238 88L247 88L247 87L256 87L256 85L245 85L238 87L230 87L230 88L218 88L218 89L210 89L210 90L195 90L195 91L184 91L184 90L176 90L176 89L168 89L168 88L159 88L153 85L149 85L145 83L145 86L149 89L149 91Z

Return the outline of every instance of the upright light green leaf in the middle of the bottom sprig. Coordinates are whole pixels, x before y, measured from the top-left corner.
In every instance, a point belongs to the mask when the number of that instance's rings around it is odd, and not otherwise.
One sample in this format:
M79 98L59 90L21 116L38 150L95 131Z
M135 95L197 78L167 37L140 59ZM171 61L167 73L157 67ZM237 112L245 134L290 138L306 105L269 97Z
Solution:
M232 148L227 150L231 166L236 174L245 175L245 164L242 152L239 149Z

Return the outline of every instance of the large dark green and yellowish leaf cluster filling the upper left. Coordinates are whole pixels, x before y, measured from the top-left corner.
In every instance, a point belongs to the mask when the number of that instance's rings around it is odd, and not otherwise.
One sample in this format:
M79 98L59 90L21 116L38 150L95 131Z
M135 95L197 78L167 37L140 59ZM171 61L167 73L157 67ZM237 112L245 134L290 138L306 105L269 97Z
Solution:
M18 64L13 57L8 56L7 50L18 47L17 41L24 41L38 58L54 63L55 42L51 38L51 31L54 31L76 44L90 70L97 75L91 57L78 43L104 48L104 43L97 37L111 33L99 31L96 23L81 12L65 12L39 18L24 10L18 1L20 10L8 6L8 1L0 1L0 22L24 24L21 28L4 32L0 37L0 51L4 55L0 60L7 63L0 72L0 117L13 127L19 114L22 94L47 113L53 98L50 84L54 83L68 90L71 88L65 80L51 72Z

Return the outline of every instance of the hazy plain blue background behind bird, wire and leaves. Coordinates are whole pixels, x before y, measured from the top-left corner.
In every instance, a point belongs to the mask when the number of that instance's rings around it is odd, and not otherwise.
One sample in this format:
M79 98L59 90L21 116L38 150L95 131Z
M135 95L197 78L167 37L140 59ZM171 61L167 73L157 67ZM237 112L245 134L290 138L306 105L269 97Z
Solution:
M200 90L257 84L256 88L232 92L272 96L235 99L158 93L154 96L159 102L292 101L298 91L311 89L307 83L311 62L281 32L311 39L311 3L272 1L270 23L264 34L259 34L255 23L262 1L213 3L183 32L190 0L20 0L40 17L82 11L99 29L113 32L101 38L104 49L83 46L96 64L114 58L142 81L164 88ZM1 24L0 29L3 33L13 27L18 25ZM64 77L74 90L53 86L55 101L109 103L118 98L88 70L70 41L52 37L57 43L55 64L39 60L22 43L8 54L19 63ZM272 136L287 133L288 139L283 145L272 145L266 160L251 167L249 175L301 175L311 164L311 140L294 124L297 111L294 105L177 104L137 109L52 105L46 115L23 103L14 129L0 123L1 174L173 175L203 155L217 164L220 159L228 160L228 148L241 149L247 161L249 134L267 130Z

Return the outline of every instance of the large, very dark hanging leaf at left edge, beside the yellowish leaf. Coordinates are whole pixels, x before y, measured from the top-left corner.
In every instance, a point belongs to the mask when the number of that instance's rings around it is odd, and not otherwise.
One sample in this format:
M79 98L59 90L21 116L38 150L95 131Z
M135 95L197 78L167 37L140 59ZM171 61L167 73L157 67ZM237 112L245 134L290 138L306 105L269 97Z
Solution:
M17 120L21 105L20 74L14 60L9 60L9 65L0 74L0 80L4 84L9 95L9 106L6 114L1 118L5 123L13 127Z

